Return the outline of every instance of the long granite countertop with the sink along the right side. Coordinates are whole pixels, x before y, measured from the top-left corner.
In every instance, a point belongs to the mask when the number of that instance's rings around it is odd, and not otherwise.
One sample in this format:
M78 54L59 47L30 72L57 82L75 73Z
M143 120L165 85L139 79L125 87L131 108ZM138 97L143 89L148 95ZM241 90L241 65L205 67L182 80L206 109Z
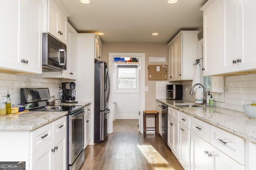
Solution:
M238 136L256 142L256 119L250 119L245 113L220 107L182 107L175 104L194 104L186 100L156 99L174 109L230 131Z

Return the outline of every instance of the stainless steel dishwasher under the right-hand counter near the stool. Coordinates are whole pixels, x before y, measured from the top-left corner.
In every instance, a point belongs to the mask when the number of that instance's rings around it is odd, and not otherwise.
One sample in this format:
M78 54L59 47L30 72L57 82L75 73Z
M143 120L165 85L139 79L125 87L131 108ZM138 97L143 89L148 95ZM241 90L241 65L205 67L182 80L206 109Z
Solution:
M168 144L168 106L162 104L162 138L166 144Z

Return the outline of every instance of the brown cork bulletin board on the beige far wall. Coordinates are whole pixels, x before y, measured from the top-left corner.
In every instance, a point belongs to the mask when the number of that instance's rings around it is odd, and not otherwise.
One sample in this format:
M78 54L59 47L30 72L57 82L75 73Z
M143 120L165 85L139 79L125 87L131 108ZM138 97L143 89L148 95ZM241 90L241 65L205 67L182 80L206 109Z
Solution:
M148 65L148 80L167 80L168 65Z

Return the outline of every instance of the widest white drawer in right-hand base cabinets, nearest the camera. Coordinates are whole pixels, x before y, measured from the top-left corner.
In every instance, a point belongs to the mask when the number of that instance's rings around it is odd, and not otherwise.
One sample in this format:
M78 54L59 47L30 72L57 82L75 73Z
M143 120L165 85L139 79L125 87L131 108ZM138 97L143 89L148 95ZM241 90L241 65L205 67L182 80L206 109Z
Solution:
M210 125L210 144L244 165L244 139Z

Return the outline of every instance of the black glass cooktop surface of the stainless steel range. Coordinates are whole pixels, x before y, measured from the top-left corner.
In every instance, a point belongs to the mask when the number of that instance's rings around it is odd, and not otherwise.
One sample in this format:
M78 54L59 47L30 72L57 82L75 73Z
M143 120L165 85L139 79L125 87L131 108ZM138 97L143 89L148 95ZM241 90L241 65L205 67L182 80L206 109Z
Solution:
M68 111L68 113L74 113L82 108L82 106L46 106L33 111Z

